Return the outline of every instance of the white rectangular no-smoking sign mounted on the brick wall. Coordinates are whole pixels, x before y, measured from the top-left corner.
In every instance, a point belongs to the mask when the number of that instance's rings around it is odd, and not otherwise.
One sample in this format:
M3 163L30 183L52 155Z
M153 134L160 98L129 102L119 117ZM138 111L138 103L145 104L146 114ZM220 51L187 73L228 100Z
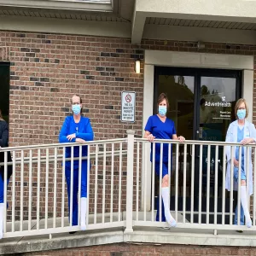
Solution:
M122 122L135 122L135 91L122 91Z

